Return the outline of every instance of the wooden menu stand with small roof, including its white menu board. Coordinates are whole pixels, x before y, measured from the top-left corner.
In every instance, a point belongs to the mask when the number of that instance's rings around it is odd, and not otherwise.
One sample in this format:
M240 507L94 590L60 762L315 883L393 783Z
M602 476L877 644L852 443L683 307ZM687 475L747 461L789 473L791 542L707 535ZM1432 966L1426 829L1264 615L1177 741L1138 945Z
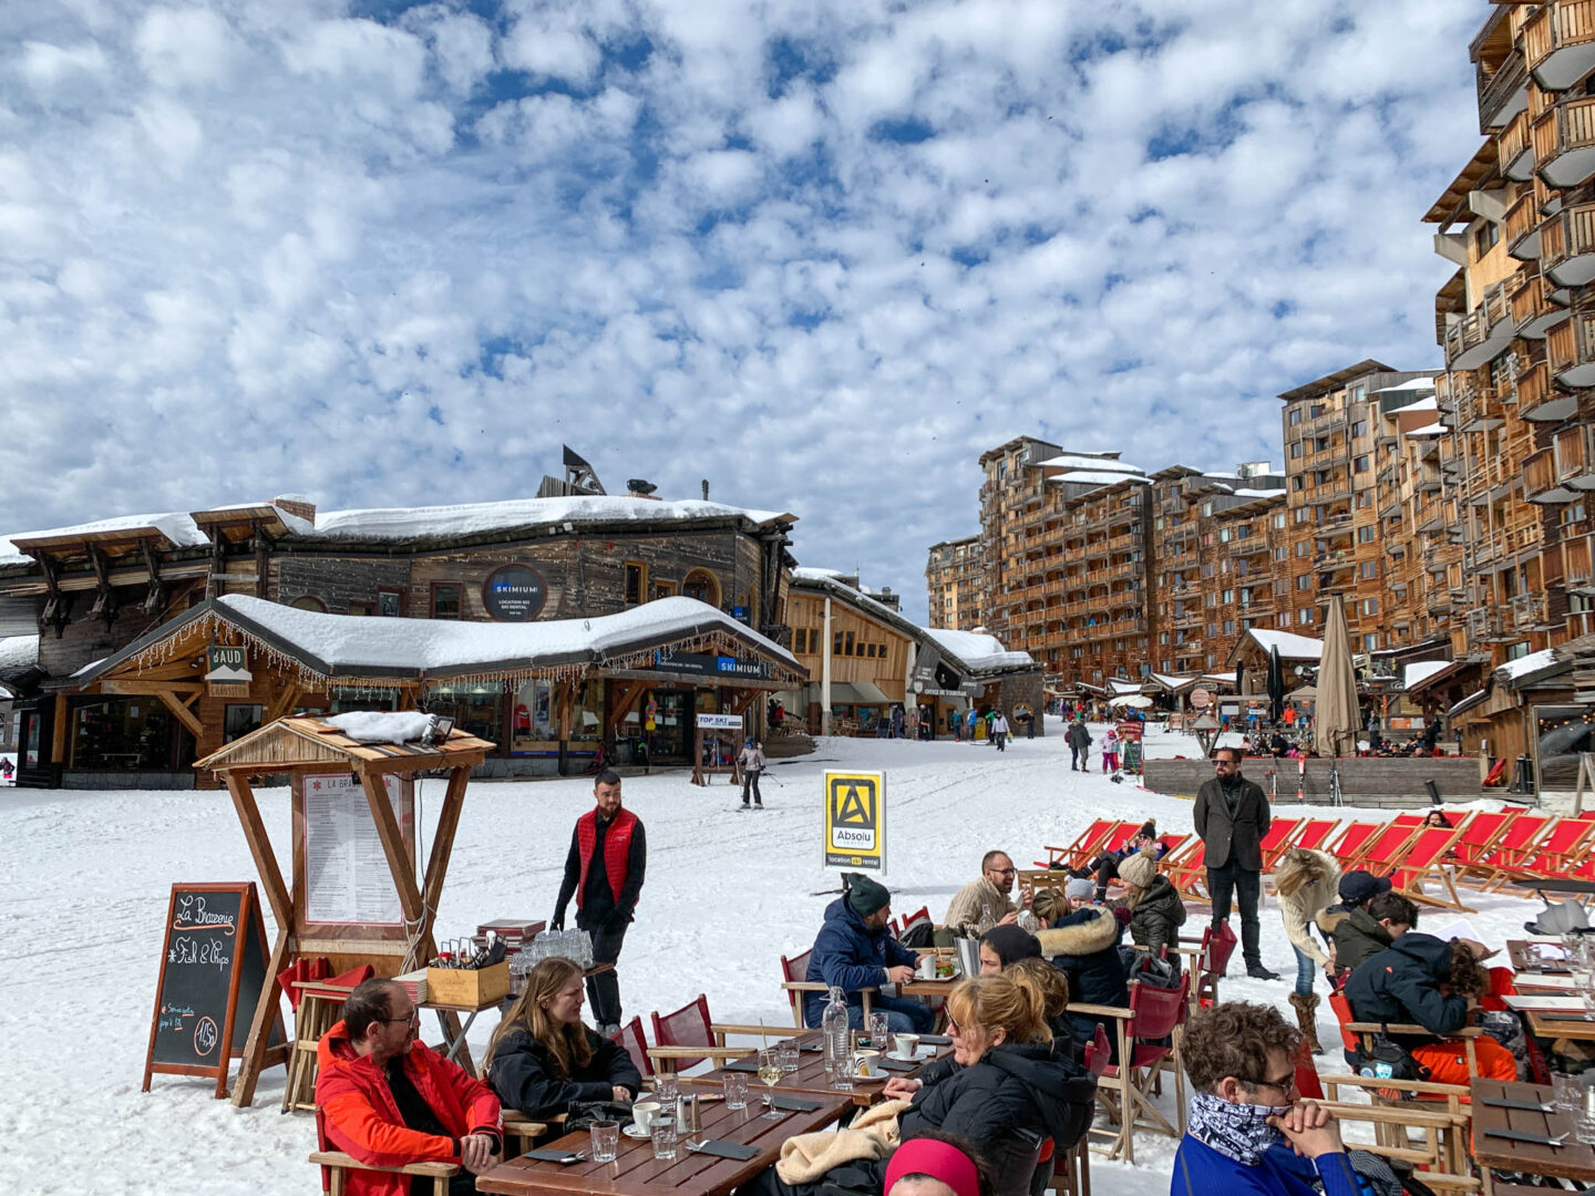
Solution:
M466 783L471 769L482 764L493 746L451 729L432 745L364 743L316 718L284 718L195 764L215 773L233 796L278 925L265 987L255 1003L255 1019L233 1088L234 1105L246 1107L254 1100L266 1057L268 1029L282 995L278 976L290 963L325 955L335 970L370 963L378 976L396 976L437 954L432 920L448 875ZM423 772L447 772L448 789L439 810L431 858L418 885L413 785L416 773ZM292 785L293 856L289 882L282 879L249 783L250 777L281 773L287 773ZM362 796L364 805L359 804ZM364 821L367 812L370 823ZM364 834L367 826L368 836ZM332 847L338 850L329 850ZM375 867L378 852L386 875ZM359 867L362 853L364 869ZM335 856L343 856L349 867L340 871ZM459 1033L458 1019L450 1030Z

